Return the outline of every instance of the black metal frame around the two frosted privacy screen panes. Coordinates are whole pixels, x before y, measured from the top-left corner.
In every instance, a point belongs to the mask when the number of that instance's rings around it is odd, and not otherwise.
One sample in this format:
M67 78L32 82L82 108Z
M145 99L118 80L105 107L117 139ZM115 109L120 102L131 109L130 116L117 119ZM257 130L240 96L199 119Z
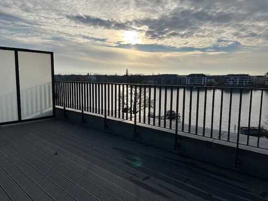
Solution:
M1 47L0 50L8 50L14 51L14 59L15 59L15 79L16 79L16 91L17 91L17 107L18 107L18 120L17 121L7 121L7 122L0 122L0 125L7 125L12 123L20 123L20 122L27 122L27 121L37 121L37 120L44 120L55 118L55 80L54 80L54 53L49 51L40 51L40 50L33 50L33 49L23 49L23 48L15 48L15 47ZM33 53L42 53L42 54L50 54L50 65L51 65L51 82L52 82L52 108L53 108L53 115L41 118L33 118L28 120L22 120L21 118L21 98L20 98L20 78L19 78L19 62L18 62L18 52L33 52Z

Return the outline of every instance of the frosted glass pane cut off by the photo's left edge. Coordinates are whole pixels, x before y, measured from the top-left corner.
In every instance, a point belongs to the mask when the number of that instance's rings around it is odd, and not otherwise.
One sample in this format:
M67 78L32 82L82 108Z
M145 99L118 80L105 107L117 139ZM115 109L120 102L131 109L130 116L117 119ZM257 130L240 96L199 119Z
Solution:
M18 120L14 51L0 50L0 123Z

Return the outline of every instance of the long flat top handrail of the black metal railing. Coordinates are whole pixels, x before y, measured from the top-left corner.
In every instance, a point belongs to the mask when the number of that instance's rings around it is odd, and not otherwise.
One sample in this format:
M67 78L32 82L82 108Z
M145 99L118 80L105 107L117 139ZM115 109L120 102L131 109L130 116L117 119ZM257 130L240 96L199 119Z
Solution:
M236 87L236 86L206 86L206 85L180 85L180 84L147 84L147 83L126 83L126 82L98 82L98 81L67 81L55 80L55 82L72 82L72 83L100 83L100 84L124 84L137 86L167 86L167 87L196 87L196 88L215 88L215 89L248 89L248 90L268 90L268 88L258 87Z

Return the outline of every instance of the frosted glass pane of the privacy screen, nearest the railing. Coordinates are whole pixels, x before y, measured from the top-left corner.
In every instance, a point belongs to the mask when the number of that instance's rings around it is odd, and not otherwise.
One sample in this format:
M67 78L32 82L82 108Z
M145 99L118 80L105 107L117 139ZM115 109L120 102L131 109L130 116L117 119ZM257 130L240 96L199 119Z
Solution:
M22 120L53 115L50 54L18 52Z

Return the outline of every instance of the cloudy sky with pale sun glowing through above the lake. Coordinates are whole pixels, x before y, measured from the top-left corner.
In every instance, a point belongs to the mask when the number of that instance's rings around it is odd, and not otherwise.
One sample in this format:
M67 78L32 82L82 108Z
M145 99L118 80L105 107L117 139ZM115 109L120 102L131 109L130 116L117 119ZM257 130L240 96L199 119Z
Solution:
M264 75L268 0L0 0L0 46L62 75Z

